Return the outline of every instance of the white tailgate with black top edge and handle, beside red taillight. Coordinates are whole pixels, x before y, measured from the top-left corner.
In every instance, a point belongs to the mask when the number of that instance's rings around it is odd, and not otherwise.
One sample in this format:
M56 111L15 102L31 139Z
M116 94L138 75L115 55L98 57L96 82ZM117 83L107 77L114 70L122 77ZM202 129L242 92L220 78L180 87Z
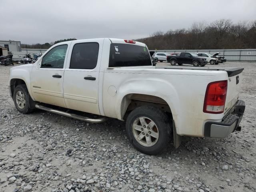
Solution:
M244 68L233 68L226 70L228 73L228 91L224 113L228 112L236 104L242 84L242 71Z

